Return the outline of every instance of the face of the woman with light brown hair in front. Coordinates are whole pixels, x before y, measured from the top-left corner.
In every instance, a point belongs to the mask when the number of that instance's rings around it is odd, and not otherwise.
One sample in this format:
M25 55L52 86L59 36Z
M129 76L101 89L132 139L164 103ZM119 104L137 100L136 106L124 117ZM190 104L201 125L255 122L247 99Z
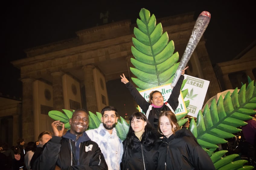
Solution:
M161 116L159 118L160 122L160 130L165 135L166 138L169 138L174 131L174 128L176 128L176 125L174 125L167 116Z

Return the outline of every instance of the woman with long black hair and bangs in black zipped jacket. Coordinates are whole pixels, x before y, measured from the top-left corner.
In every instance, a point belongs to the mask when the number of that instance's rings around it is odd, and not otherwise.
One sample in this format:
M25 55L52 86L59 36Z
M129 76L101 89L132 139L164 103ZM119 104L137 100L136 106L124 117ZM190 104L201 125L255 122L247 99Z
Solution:
M145 114L135 112L130 116L130 128L123 141L121 169L155 170L158 165L159 133Z

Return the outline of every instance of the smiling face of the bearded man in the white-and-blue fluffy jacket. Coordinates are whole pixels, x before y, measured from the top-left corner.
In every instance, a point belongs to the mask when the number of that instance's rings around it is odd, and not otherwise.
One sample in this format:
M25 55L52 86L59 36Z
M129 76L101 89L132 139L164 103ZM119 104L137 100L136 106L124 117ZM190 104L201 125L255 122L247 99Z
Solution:
M104 111L103 117L101 117L101 122L103 123L104 128L111 130L116 126L118 117L114 110ZM110 134L111 134L110 133Z

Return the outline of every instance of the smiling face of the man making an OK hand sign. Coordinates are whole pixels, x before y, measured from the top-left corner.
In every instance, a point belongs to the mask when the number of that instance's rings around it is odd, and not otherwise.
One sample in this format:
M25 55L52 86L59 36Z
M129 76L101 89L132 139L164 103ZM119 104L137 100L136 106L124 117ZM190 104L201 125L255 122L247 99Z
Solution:
M83 110L78 110L73 113L72 119L69 119L70 133L78 137L82 136L83 132L88 128L89 117Z

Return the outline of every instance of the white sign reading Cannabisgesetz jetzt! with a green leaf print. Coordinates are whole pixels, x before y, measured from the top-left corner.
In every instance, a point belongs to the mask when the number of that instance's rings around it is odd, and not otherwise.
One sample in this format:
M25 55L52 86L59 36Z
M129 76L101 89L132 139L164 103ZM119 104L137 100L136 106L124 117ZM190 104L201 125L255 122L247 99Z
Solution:
M183 90L188 89L188 93L184 98L185 101L189 100L189 106L187 107L188 115L197 117L199 110L202 109L210 81L186 74L184 74L184 77L187 81Z

